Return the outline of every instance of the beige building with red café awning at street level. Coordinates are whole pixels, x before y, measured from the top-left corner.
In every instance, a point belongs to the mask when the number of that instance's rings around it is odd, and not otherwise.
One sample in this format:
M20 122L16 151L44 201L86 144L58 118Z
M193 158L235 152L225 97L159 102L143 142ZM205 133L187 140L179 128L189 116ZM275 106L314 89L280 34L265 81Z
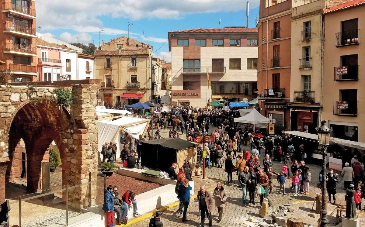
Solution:
M95 55L95 79L100 79L99 104L126 105L152 97L152 46L126 36L101 45Z

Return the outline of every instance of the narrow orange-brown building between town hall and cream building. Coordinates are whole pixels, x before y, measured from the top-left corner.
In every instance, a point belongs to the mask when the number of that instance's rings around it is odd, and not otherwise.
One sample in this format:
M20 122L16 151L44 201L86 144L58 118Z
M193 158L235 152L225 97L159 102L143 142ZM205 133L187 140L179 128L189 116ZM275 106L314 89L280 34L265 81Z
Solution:
M276 133L290 128L291 9L291 0L260 0L258 97L261 114L276 121Z

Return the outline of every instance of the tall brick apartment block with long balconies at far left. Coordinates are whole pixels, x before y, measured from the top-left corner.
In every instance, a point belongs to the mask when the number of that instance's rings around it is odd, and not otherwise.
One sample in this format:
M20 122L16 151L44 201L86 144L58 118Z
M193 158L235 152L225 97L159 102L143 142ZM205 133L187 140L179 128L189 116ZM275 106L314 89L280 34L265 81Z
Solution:
M8 82L37 81L35 0L2 0L1 4L2 75L11 77Z

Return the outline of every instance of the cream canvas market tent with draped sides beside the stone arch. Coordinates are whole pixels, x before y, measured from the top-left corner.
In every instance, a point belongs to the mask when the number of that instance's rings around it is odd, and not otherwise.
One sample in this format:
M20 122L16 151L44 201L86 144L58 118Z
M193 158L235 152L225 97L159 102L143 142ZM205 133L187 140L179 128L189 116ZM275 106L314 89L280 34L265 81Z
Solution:
M105 142L116 142L116 144L119 145L117 146L116 157L119 157L121 150L120 134L128 133L133 138L138 139L139 135L145 135L149 123L150 119L128 116L120 116L120 118L116 120L107 119L97 121L98 151L101 151Z

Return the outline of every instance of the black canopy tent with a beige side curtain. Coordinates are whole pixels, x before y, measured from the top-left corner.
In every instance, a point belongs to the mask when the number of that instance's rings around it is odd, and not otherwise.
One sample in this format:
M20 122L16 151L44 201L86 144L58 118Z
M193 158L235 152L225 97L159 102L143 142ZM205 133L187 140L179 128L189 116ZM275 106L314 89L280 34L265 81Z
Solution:
M196 144L180 138L155 139L142 142L141 145L141 163L148 168L167 171L176 162L178 169L183 165L184 159L188 158L194 170L196 156Z

